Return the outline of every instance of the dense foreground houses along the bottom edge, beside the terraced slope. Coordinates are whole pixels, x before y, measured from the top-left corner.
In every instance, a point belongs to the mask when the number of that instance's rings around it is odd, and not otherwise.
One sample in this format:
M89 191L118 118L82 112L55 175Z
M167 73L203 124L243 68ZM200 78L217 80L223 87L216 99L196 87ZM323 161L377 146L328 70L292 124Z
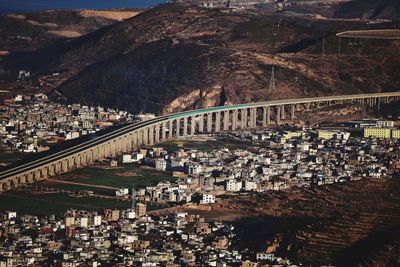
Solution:
M289 263L270 253L235 250L235 228L179 212L143 208L62 217L1 214L0 266L255 266Z

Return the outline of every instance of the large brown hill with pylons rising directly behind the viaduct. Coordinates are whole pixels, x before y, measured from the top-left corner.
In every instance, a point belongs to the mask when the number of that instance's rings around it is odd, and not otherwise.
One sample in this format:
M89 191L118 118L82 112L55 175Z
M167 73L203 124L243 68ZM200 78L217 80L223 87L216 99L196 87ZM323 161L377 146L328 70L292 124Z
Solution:
M165 4L87 35L2 64L5 88L31 70L31 84L60 101L165 113L268 99L393 90L398 41L365 44L336 32L396 24L226 13ZM310 30L312 29L312 30ZM325 38L325 56L322 39ZM384 47L384 49L382 49ZM277 90L269 92L272 66ZM55 80L50 74L58 72Z

